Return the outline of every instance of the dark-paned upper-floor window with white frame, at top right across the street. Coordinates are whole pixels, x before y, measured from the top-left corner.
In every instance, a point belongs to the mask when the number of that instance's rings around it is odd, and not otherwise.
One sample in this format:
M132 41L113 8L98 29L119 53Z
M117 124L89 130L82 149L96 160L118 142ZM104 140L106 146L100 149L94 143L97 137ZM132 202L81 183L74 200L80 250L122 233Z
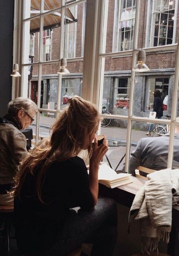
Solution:
M173 42L175 0L153 0L150 46Z

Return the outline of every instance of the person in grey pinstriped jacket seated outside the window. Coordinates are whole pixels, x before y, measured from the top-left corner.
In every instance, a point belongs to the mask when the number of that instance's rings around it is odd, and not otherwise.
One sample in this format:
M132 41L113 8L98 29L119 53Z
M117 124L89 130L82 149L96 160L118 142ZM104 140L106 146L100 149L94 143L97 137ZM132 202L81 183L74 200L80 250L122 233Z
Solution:
M179 117L176 118L179 121ZM170 127L169 127L170 128ZM141 138L136 149L130 154L129 173L135 176L135 169L143 166L153 170L167 168L170 133L157 138ZM173 169L179 168L179 126L175 126L173 144ZM124 170L124 167L123 169ZM146 173L139 171L141 175Z

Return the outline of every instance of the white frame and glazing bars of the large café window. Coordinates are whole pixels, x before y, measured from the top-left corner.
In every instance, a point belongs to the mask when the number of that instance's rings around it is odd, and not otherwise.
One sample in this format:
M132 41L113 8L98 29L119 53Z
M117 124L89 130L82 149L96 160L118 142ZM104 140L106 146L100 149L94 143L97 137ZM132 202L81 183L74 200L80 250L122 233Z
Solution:
M123 57L125 52L113 52L113 53L105 53L105 44L106 44L106 32L107 32L107 14L108 14L108 0L87 0L86 5L86 22L85 25L85 46L84 46L84 58L75 58L74 60L83 60L83 87L82 87L82 96L94 102L99 106L99 109L102 108L102 94L103 94L103 82L104 82L104 64L105 58L107 57ZM23 1L25 2L25 1ZM79 0L75 3L83 3L84 0ZM131 69L131 85L130 85L130 102L129 102L129 113L128 116L123 115L111 115L111 118L114 119L123 119L127 121L127 140L126 140L126 171L128 171L129 166L129 156L130 156L130 140L131 140L131 129L133 121L140 122L149 122L149 118L141 118L133 116L133 92L134 92L134 83L135 83L135 72L133 71L133 67L137 61L137 35L138 35L138 26L139 26L139 10L140 10L140 0L136 0L136 16L135 16L135 28L134 28L134 42L133 42L133 50L132 52L132 69ZM63 2L64 4L64 2ZM67 7L73 6L74 3L69 3ZM55 9L56 11L61 9L61 19L64 19L64 5L61 8ZM52 11L48 11L46 14L52 13ZM39 44L42 45L42 18L45 14L43 13L43 0L41 0L41 13L38 15L40 17L40 36L39 36ZM30 17L22 22L22 44L19 47L19 55L22 51L22 58L20 61L20 72L22 74L21 79L21 93L19 96L26 96L24 93L24 80L23 74L24 69L29 66L29 64L24 64L24 22L27 20L33 19ZM21 23L20 23L21 24ZM61 38L63 37L64 25L61 25ZM179 40L178 40L179 41ZM167 45L163 47L159 47L160 51L166 51L171 49L176 49L176 68L175 68L175 81L173 88L173 105L171 110L171 120L164 119L154 119L153 123L162 123L162 124L170 124L170 141L169 141L169 154L168 154L168 168L172 168L173 163L173 140L174 140L174 128L175 125L179 125L175 121L176 113L177 113L177 95L178 95L178 84L179 84L179 47L176 45ZM146 52L155 52L156 47L151 47L146 49ZM60 56L59 60L50 61L49 63L57 63L63 56L63 40L60 42ZM70 60L72 61L72 60ZM23 63L23 64L22 64ZM41 49L39 49L39 62L38 64L39 72L38 72L38 90L40 91L41 84L41 66L42 66L42 55ZM33 65L33 64L31 64ZM60 113L60 97L61 97L61 75L58 76L58 95L57 95L57 110L51 112ZM40 105L40 94L38 94L38 107ZM46 109L40 109L37 112L36 118L36 142L38 142L38 129L39 129L39 112L40 111L47 112ZM48 110L48 112L50 112ZM100 128L100 127L99 127Z

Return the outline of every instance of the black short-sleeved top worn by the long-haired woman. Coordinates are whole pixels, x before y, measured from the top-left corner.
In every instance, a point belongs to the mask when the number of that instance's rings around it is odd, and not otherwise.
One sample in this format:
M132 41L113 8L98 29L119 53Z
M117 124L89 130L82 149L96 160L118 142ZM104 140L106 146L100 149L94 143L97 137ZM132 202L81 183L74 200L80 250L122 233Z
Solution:
M84 161L72 157L54 162L46 172L42 204L36 196L36 174L30 173L22 185L20 200L14 199L16 238L22 254L46 251L57 242L69 208L89 210L94 201L89 189Z

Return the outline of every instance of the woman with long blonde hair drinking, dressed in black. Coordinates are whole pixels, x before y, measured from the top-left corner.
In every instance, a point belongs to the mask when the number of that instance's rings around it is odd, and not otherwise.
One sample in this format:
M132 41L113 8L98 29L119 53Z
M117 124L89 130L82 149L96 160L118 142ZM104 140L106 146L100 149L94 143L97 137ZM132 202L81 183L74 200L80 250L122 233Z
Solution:
M100 115L78 96L19 166L14 211L17 245L26 256L65 255L81 243L93 243L91 256L111 256L116 239L116 204L98 198L99 163L108 150L97 146ZM92 144L92 141L94 143ZM77 155L89 152L89 175ZM75 211L73 207L80 207Z

